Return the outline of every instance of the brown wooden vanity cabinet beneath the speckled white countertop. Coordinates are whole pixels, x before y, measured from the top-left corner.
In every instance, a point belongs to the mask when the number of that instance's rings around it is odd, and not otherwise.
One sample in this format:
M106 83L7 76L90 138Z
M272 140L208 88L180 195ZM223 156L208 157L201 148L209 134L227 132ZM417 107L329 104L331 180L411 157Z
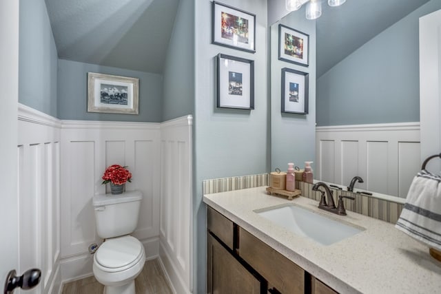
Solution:
M207 293L337 293L211 207L207 229Z

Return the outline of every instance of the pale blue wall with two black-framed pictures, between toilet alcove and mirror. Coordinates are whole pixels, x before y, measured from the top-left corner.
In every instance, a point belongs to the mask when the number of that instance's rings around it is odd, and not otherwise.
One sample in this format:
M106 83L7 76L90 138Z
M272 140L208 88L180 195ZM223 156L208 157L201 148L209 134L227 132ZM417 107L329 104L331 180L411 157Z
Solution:
M262 174L268 165L267 0L223 0L256 14L256 53L212 42L212 1L195 3L194 125L194 293L205 293L207 226L202 182L209 178ZM216 107L215 56L219 53L254 60L254 110Z

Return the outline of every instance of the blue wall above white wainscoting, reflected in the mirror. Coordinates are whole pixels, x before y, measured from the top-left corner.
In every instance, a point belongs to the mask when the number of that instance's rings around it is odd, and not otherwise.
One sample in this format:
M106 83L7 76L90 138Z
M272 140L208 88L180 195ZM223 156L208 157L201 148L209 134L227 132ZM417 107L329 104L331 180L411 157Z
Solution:
M419 121L418 19L438 9L426 3L320 76L317 125Z

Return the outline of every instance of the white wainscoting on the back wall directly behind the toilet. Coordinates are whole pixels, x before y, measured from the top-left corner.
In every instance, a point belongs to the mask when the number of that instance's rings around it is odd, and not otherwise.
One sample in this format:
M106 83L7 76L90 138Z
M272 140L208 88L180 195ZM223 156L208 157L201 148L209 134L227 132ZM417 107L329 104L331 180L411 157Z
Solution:
M92 198L108 191L101 185L105 167L119 164L132 172L127 191L143 193L134 236L147 258L159 246L159 123L63 120L61 128L61 273L63 281L92 275L88 247L96 235ZM107 189L107 191L106 191Z

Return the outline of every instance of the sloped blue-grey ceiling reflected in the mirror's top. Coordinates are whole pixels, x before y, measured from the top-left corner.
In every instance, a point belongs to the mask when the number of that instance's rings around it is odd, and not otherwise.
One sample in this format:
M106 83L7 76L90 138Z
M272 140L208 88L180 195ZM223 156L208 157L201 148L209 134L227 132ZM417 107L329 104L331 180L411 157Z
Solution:
M339 7L322 1L322 16L316 26L317 76L428 1L347 0Z

